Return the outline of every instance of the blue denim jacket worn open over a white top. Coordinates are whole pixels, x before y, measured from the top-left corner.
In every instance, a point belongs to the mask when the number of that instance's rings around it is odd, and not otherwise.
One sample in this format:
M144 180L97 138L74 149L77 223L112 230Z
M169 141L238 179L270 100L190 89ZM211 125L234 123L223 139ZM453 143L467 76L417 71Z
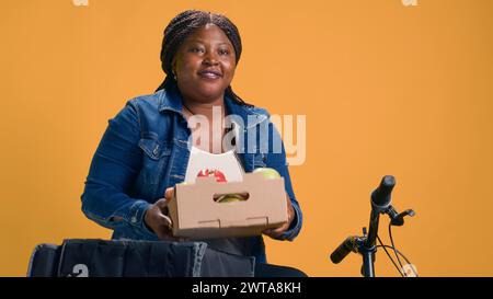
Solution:
M238 157L245 172L268 166L284 177L296 216L279 240L293 241L301 229L302 215L293 191L284 143L270 122L270 114L260 107L240 105L227 96L225 108L228 115L238 115L245 124L244 134L239 135L240 142L237 141L242 147ZM261 126L268 126L268 140L255 135ZM177 89L160 90L128 101L108 120L94 153L81 196L85 216L113 229L113 239L157 241L158 237L145 225L144 215L151 204L163 197L167 187L184 181L190 134ZM252 136L256 142L252 141ZM268 150L275 147L275 138L282 145L280 151ZM250 255L265 263L262 235L246 238L246 241Z

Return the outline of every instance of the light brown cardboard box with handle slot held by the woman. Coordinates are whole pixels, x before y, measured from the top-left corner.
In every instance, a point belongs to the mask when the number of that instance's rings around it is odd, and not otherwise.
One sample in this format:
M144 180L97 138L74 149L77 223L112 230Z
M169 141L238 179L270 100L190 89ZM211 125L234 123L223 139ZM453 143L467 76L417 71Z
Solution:
M217 203L218 195L248 193L244 202ZM173 234L190 239L248 237L287 221L284 179L264 179L245 173L241 182L218 183L216 177L197 177L177 184L169 204Z

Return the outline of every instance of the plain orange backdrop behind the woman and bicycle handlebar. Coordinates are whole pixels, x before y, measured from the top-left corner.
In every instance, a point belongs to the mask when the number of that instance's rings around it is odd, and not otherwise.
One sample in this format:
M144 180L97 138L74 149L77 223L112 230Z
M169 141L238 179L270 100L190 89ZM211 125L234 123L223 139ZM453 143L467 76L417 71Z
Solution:
M419 273L493 275L493 1L0 5L0 275L25 275L37 243L110 238L80 211L92 154L107 119L161 82L163 28L191 8L238 25L238 94L307 115L307 160L290 168L305 226L293 243L267 241L271 263L358 276L359 256L329 254L368 225L369 194L393 174L395 207L417 214L394 239ZM397 274L383 252L376 268Z

